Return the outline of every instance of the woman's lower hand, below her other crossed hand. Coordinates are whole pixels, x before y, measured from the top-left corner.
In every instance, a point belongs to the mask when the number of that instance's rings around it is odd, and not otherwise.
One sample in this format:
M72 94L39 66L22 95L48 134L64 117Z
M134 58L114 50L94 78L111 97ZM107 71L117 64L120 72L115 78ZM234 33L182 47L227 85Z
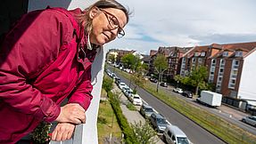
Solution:
M75 124L70 123L57 124L57 126L54 129L54 132L52 133L52 140L70 140L75 130L75 127Z

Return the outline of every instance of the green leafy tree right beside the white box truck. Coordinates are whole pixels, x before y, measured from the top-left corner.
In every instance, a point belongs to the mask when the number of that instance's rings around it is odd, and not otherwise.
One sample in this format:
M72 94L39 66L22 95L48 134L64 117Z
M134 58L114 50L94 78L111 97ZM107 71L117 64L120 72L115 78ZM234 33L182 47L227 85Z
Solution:
M204 66L194 68L189 76L190 84L195 86L195 95L198 94L199 87L206 87L208 70Z

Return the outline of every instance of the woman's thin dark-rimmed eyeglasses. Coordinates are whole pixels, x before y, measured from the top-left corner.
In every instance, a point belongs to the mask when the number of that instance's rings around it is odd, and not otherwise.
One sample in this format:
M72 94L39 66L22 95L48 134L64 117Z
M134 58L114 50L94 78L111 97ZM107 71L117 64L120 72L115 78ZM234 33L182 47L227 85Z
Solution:
M109 26L111 29L118 28L118 37L121 38L122 36L125 36L125 31L124 29L120 28L120 22L117 19L117 17L111 14L111 12L106 12L103 9L99 9L99 10L105 14L107 20L109 21Z

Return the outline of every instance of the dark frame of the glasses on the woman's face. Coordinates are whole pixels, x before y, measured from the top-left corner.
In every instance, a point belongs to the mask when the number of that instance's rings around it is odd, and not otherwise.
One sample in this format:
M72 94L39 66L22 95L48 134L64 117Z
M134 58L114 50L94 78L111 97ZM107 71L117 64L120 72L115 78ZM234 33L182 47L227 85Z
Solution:
M123 28L120 28L120 21L117 19L117 17L114 16L111 12L107 12L107 11L101 9L101 8L99 8L99 10L105 14L105 17L107 18L107 20L108 20L108 22L109 22L109 26L110 26L112 29L118 28L118 35L117 35L117 37L118 37L118 38L121 38L121 37L125 36L125 31L124 31ZM111 18L116 19L116 21L118 22L118 25L112 26L112 23L114 23L114 21L109 18L109 15L111 16ZM112 21L112 22L111 22L111 21Z

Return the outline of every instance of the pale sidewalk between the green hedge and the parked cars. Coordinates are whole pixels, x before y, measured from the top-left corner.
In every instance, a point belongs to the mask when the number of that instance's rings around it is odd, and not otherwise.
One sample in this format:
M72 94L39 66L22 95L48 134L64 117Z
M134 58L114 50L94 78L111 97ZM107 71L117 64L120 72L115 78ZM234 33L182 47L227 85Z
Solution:
M121 94L120 108L122 109L123 115L126 116L126 118L128 119L128 123L135 124L135 122L139 123L139 121L141 121L143 124L145 124L145 118L140 115L139 111L137 111L139 110L140 106L136 106L136 109L137 109L136 111L129 110L126 106L126 104L128 103L128 99L120 91L119 87L116 84L113 84L112 92L120 92ZM157 139L158 139L158 142L156 144L164 144L164 142L159 137L157 137Z

